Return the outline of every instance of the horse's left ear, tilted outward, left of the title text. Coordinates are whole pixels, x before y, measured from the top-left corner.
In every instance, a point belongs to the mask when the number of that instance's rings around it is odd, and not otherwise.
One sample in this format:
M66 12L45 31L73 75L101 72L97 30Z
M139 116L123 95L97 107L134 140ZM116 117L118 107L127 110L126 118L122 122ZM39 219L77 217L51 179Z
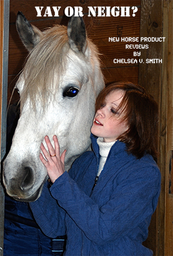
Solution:
M22 43L29 52L40 42L40 38L43 36L42 31L31 25L22 12L17 13L16 28Z

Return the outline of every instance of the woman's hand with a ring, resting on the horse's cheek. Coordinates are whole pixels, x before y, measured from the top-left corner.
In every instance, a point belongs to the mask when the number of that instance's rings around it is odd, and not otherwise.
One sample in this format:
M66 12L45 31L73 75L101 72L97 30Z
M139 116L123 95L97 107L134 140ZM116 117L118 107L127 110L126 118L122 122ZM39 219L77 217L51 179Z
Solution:
M55 180L57 180L57 178L59 178L59 176L61 176L65 171L64 162L66 150L63 151L60 156L59 142L55 135L53 137L55 149L52 147L48 136L44 137L44 140L46 142L48 152L42 143L40 148L42 149L43 155L46 159L43 157L42 153L40 153L40 160L46 167L51 182L54 183Z

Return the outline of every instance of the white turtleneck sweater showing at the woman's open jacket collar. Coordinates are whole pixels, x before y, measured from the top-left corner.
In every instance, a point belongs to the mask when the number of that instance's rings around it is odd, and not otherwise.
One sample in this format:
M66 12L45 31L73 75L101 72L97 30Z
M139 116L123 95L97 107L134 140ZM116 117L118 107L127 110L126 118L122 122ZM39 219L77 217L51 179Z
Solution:
M99 145L99 153L100 153L100 162L99 162L99 170L97 173L97 177L99 177L101 171L103 170L104 164L106 163L106 159L108 157L108 153L112 145L114 145L115 141L104 142L103 138L97 138L97 144Z

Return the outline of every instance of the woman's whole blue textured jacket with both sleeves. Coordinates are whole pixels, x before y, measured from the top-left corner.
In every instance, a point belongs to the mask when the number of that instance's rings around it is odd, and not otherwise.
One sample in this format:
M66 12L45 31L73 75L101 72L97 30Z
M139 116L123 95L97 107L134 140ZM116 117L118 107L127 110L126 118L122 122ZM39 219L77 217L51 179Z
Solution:
M160 171L151 155L141 159L116 141L97 185L99 146L83 153L31 203L33 215L50 237L67 234L64 255L152 255L142 246L160 194ZM91 196L90 196L91 195Z

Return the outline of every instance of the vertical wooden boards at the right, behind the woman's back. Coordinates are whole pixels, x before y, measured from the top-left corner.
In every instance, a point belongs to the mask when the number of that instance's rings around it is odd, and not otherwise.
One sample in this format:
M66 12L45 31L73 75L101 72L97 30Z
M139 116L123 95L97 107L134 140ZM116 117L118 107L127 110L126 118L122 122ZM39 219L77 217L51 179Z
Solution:
M139 83L159 105L159 158L161 192L157 211L150 225L148 247L155 244L155 255L173 255L173 1L142 0L140 36L164 36L165 41L149 43L142 58L160 58L160 64L140 64ZM156 231L156 234L153 231Z

